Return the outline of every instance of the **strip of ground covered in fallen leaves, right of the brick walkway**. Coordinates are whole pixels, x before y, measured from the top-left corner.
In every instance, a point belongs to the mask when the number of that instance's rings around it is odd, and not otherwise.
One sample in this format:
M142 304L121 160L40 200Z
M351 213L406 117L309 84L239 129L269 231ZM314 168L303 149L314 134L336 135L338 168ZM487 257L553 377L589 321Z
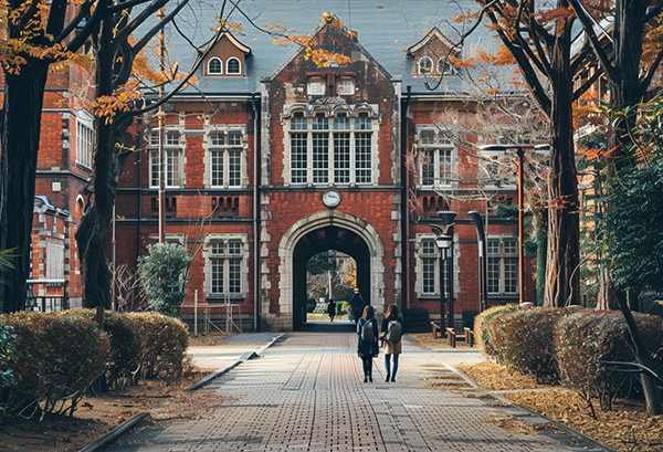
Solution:
M424 348L449 348L446 339L432 339L431 334L410 335ZM459 343L459 347L466 347ZM603 412L597 408L596 418L585 400L576 392L559 386L539 386L535 379L496 364L457 366L482 388L505 391L501 395L532 411L560 422L611 449L624 452L662 452L663 416L646 414L643 402L618 400L613 411ZM459 385L444 385L430 378L431 386L460 389ZM467 388L470 389L470 388ZM513 417L512 417L513 418ZM488 419L513 432L536 434L524 422L514 419ZM532 431L528 431L532 430Z

